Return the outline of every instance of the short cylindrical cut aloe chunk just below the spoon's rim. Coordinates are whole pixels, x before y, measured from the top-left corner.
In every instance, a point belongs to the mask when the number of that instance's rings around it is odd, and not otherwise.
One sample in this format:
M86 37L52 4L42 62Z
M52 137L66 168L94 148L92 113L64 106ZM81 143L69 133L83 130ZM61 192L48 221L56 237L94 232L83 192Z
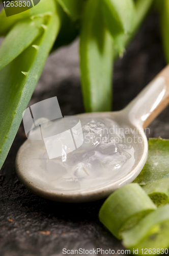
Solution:
M121 233L134 227L156 206L138 184L128 184L111 194L99 211L100 221L121 239Z

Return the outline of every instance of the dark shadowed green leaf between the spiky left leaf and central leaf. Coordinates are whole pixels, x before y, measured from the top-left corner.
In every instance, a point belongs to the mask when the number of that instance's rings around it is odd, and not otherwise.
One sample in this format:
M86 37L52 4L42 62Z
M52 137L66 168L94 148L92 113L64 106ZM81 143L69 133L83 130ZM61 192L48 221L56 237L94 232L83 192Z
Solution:
M54 42L52 51L57 50L59 47L70 44L79 33L79 20L72 20L58 4L58 15L61 19L61 28L57 39Z

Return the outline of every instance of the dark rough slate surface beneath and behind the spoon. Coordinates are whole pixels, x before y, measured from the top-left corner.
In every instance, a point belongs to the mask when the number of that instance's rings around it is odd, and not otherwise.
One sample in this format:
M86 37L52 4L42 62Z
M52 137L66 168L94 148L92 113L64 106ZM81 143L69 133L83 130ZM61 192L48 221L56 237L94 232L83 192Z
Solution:
M57 96L63 115L84 112L79 77L78 40L51 54L30 104ZM159 20L152 13L115 64L113 110L126 106L165 66ZM167 108L150 125L150 137L169 138ZM66 204L32 194L18 180L15 157L24 142L20 125L0 171L0 255L55 256L62 249L123 249L98 220L104 200Z

